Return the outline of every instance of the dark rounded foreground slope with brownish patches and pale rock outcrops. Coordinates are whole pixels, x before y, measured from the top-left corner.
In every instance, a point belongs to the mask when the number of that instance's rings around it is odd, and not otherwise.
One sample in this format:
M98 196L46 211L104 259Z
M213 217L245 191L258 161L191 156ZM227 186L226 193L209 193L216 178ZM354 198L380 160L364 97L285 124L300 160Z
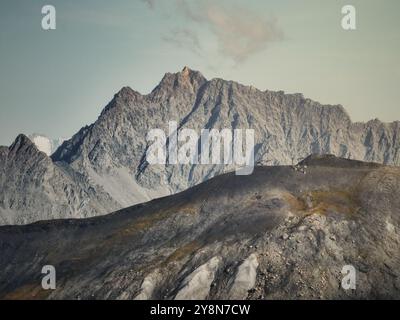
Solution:
M227 173L106 216L0 227L0 298L399 299L399 208L398 167L312 156Z

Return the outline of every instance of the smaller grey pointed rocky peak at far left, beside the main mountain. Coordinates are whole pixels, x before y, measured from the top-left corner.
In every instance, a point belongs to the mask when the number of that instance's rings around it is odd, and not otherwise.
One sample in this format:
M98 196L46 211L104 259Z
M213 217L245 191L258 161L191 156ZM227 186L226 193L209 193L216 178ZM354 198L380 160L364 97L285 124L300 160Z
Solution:
M24 135L0 149L0 224L107 213L116 206L104 191L53 161Z

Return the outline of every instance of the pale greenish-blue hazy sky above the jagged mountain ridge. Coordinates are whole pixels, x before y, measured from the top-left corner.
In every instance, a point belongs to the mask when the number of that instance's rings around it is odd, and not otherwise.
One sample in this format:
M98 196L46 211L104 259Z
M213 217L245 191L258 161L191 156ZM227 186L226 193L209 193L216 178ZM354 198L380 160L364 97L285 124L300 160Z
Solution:
M399 30L398 0L2 0L0 145L70 137L123 86L146 94L184 66L341 104L353 121L400 120Z

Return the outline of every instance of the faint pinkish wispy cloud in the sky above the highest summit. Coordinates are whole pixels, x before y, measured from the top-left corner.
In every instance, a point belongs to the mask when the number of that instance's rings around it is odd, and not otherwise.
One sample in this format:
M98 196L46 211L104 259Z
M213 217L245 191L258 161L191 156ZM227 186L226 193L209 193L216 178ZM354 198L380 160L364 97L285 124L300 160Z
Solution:
M152 9L157 2L142 1ZM175 13L190 21L192 27L179 29L179 32L171 30L170 35L163 36L163 39L192 51L195 49L197 53L204 51L204 47L196 33L196 25L208 29L217 40L221 56L231 58L236 63L244 62L284 37L276 19L267 18L247 7L224 2L188 0L176 0L175 5Z

